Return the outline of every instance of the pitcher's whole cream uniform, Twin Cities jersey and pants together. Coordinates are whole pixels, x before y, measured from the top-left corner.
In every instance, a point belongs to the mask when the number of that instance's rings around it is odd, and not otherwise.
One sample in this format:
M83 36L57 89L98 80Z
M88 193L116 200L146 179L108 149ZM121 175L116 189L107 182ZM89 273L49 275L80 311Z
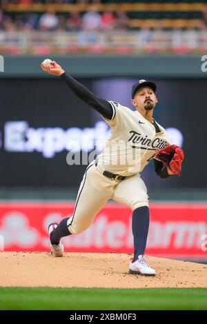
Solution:
M81 182L75 212L68 220L68 229L72 234L86 230L95 216L112 199L131 210L148 206L148 193L139 172L149 163L160 148L168 145L166 131L155 126L139 112L132 111L119 103L112 105L112 119L105 121L111 127L111 133L103 152L88 165ZM97 165L97 166L95 166ZM103 171L126 176L116 181L103 175Z

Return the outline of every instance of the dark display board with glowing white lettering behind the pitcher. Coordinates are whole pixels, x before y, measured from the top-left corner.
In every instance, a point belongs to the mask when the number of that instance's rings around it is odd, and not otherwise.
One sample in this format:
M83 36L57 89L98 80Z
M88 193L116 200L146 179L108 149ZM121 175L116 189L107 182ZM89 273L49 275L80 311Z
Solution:
M139 76L139 79L143 78L144 76ZM130 90L135 79L99 78L78 81L100 98L131 107ZM202 111L199 126L195 125L195 102L197 107L203 106L207 80L154 81L157 83L159 102L153 116L166 129L170 143L183 148L185 160L180 177L160 179L153 162L149 163L141 176L149 191L206 188L205 159L197 159L195 163L195 156L199 156L200 148L205 147L207 111ZM194 91L195 88L197 92ZM94 155L95 150L99 153L103 149L109 136L110 128L100 114L75 96L63 80L55 77L0 78L0 97L0 188L76 190L86 165L90 162L90 156ZM196 132L192 125L195 125ZM74 152L77 161L81 163L68 163L68 154L73 154L70 152ZM70 161L72 163L72 159ZM195 165L196 176L192 180Z

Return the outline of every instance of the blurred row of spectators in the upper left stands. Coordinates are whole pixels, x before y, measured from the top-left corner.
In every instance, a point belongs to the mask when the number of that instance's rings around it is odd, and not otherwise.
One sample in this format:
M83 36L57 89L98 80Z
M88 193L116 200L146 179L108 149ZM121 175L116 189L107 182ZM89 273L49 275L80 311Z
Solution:
M126 12L97 12L95 7L81 14L76 9L70 13L56 13L48 10L43 14L10 13L0 10L0 30L43 30L43 31L79 31L79 30L126 30L128 17Z

